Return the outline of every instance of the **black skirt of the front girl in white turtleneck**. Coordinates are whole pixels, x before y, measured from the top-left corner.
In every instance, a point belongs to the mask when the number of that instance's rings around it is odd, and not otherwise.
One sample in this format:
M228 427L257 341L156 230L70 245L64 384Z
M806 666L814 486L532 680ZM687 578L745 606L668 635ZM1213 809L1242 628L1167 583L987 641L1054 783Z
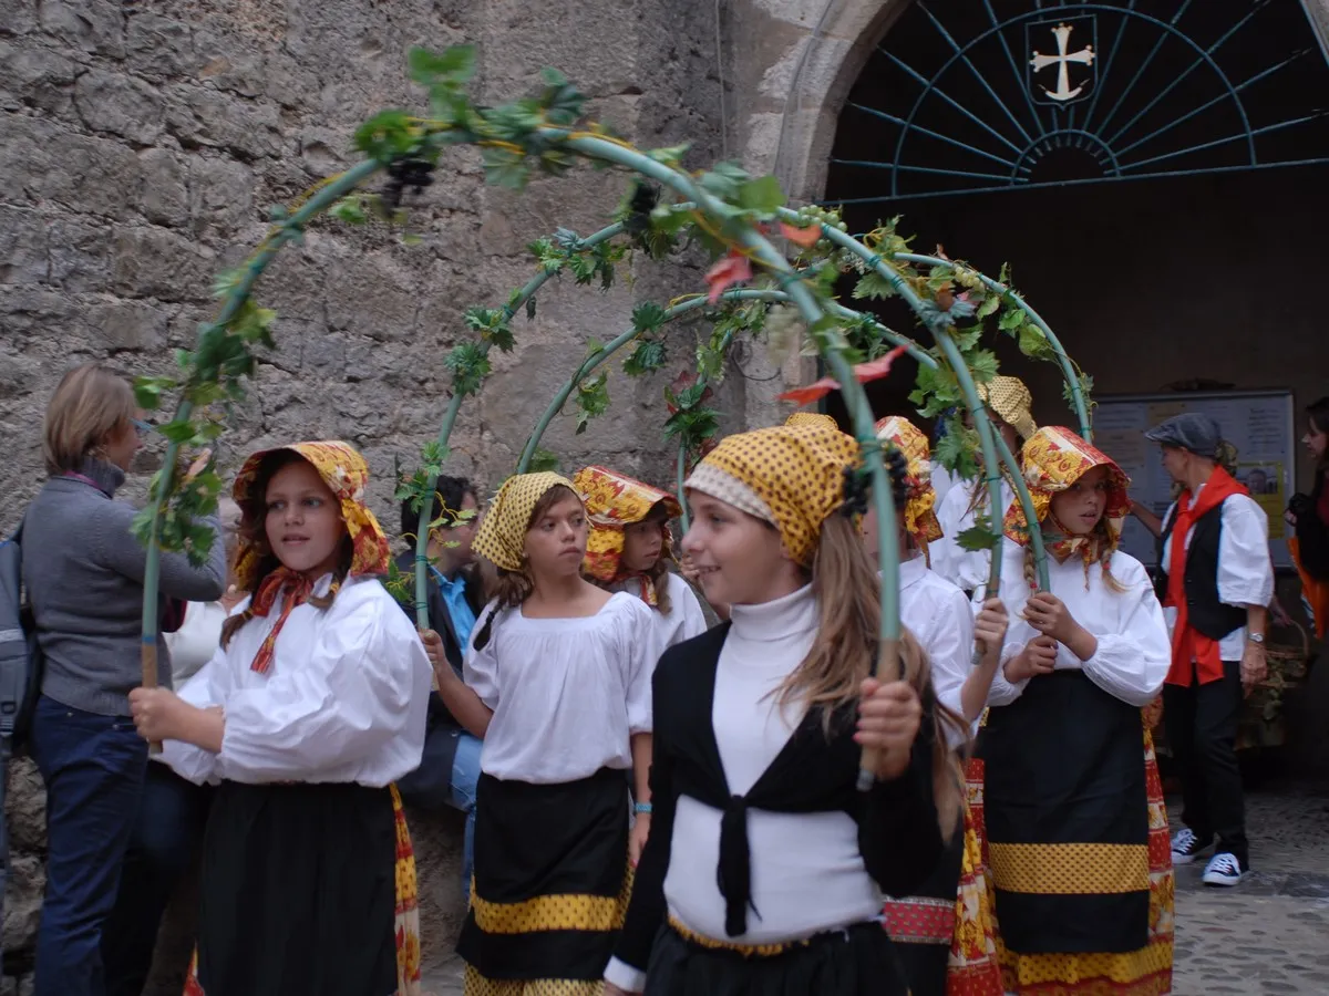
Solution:
M663 927L645 996L908 996L890 938L876 922L811 938L779 955L703 947Z

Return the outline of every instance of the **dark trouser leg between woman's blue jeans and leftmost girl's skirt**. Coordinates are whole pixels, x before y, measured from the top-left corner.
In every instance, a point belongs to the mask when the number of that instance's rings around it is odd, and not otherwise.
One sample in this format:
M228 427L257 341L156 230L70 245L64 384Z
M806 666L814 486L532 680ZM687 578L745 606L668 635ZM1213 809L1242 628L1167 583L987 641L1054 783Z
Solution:
M203 845L213 799L163 764L149 764L116 906L101 934L106 996L141 996L162 915Z

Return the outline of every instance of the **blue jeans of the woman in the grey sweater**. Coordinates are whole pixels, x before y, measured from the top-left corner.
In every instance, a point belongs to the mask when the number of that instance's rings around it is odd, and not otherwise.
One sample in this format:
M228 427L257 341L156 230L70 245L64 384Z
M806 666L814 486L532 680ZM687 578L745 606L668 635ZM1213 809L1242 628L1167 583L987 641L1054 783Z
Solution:
M138 818L148 744L133 720L41 696L32 756L47 784L47 894L35 996L104 996L101 932Z

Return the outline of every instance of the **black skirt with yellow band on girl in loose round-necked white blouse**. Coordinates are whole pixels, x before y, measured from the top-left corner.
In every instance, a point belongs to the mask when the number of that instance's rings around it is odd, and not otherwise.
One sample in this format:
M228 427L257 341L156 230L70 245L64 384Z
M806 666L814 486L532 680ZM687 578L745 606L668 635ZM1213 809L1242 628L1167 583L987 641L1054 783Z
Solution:
M457 940L473 972L602 977L627 911L627 811L621 770L557 785L480 776L473 895Z

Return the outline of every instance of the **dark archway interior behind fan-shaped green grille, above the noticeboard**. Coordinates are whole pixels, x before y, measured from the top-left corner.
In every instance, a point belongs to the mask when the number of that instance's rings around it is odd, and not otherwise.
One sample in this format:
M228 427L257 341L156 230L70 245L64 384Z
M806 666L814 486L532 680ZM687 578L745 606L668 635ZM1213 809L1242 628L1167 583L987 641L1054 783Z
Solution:
M999 17L1034 7L1027 1L994 3ZM1074 7L1069 5L1069 12ZM1136 4L1136 9L1168 17L1177 7L1162 0ZM929 8L942 12L938 4ZM1205 0L1193 8L1199 13L1188 13L1191 21L1179 24L1201 44L1212 45L1252 4ZM1047 8L1047 13L1055 17L1058 9ZM990 27L983 4L948 4L944 16L948 31L961 44ZM1118 21L1110 15L1098 19L1100 54L1106 56L1116 29ZM1156 39L1132 32L1135 28L1130 25L1111 70L1111 78L1123 89L1134 74L1127 72L1131 60L1142 61ZM1014 46L1023 41L1023 27L1009 39L1018 60L1021 50ZM1002 93L1014 108L1023 93L1014 89L1015 77L1006 56L994 45L987 48L986 57L1001 60L989 66L990 85L995 89L1005 80ZM973 49L975 65L979 49L978 45ZM946 183L982 181L914 171L900 174L901 189L916 191L914 197L855 203L889 191L893 174L845 161L889 162L900 137L897 125L865 114L861 108L905 117L922 92L921 84L902 73L888 52L925 74L949 54L934 25L914 5L892 27L882 50L869 60L852 89L840 117L825 197L827 203L845 205L851 231L870 230L878 219L898 214L900 231L917 236L914 247L920 252L933 252L941 244L948 255L993 275L1010 263L1014 284L1094 377L1098 393L1162 390L1192 380L1237 388L1290 388L1298 404L1329 393L1329 335L1320 300L1322 275L1329 270L1329 243L1324 235L1329 219L1329 165L1084 182L1102 173L1099 161L1084 149L1063 145L1041 153L1033 178L1053 183L1073 181L1069 186L918 197L946 189ZM1243 90L1252 126L1308 116L1316 105L1326 102L1329 66L1296 0L1267 4L1259 21L1253 19L1245 35L1235 36L1219 53L1233 80L1245 80L1296 56L1278 72ZM1164 42L1123 100L1118 120L1146 106L1191 61L1193 57L1183 46ZM1167 114L1180 117L1212 100L1217 78L1212 73L1203 78L1199 70L1192 73L1160 101L1154 118L1142 118L1144 130L1166 125ZM949 96L997 126L1003 112L982 92L973 73L952 72L942 81ZM1104 88L1103 104L1112 97ZM920 106L932 108L928 113L920 110L920 124L975 146L986 141L982 147L995 147L977 125L945 102L929 98ZM1233 108L1231 101L1223 101L1205 114L1168 129L1163 138L1185 149L1236 133L1241 122ZM1026 127L1033 127L1029 112L1022 113ZM1045 126L1066 124L1065 110L1041 113ZM1076 113L1083 120L1084 108ZM901 162L924 169L960 169L966 155L941 141L910 138L910 142L916 142L912 158ZM1329 122L1316 118L1278 129L1259 137L1257 143L1260 162L1329 157ZM1170 169L1183 161L1196 170L1228 169L1240 163L1240 145L1224 143L1209 153L1189 153L1166 163ZM1146 151L1162 155L1166 147L1155 145ZM971 157L968 163L973 166ZM847 283L843 288L847 300L849 290ZM898 301L885 301L877 311L902 332L918 331ZM1005 372L1029 382L1041 421L1070 421L1055 367L1031 364L1005 339L998 355ZM908 394L913 376L914 364L905 360L888 380L869 385L878 414L912 414ZM828 412L844 417L839 396L829 398Z

